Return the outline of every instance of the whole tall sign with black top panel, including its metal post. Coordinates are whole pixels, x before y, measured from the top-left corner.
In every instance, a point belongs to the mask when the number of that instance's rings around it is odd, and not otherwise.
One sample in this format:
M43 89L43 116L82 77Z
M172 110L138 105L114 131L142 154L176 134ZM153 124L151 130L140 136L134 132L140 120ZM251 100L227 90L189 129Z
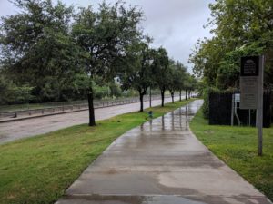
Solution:
M240 109L256 109L258 124L258 155L262 155L264 56L241 58Z

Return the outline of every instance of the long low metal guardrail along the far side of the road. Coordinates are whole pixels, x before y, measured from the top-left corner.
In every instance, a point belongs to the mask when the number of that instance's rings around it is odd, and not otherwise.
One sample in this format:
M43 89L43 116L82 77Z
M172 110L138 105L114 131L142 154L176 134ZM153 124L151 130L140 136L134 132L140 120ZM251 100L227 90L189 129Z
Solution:
M170 98L170 95L166 95L165 98ZM160 96L152 96L152 100L161 99ZM144 102L149 101L149 96L144 97ZM95 101L94 108L104 108L116 105L124 105L129 103L139 102L139 98L129 98L129 99L122 99L122 100L111 100L111 101ZM38 115L48 115L60 112L77 112L77 111L84 111L88 109L88 103L82 104L72 104L72 105L62 105L62 106L55 106L49 108L39 108L39 109L29 109L29 110L22 110L22 111L9 111L9 112L0 112L0 120L11 119L11 118L20 118L20 117L32 117Z

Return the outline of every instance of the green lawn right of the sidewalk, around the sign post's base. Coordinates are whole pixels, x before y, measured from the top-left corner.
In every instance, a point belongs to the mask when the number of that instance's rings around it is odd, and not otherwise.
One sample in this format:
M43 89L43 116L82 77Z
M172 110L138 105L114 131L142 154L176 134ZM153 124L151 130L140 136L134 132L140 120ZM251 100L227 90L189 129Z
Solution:
M273 200L273 128L264 131L264 155L257 156L257 129L208 125L199 111L191 130L210 151Z

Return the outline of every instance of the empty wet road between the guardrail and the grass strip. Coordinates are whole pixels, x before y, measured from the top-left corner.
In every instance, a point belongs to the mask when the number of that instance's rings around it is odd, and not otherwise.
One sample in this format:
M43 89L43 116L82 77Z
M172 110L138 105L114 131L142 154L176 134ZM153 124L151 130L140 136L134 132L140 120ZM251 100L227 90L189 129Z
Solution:
M176 97L178 100L178 97ZM171 102L167 98L166 102ZM161 104L160 100L152 102L152 106ZM113 116L126 112L136 112L139 110L139 102L126 105L100 108L95 110L96 121L105 120ZM149 106L149 102L144 102L144 108ZM33 137L50 131L56 131L66 127L88 122L88 111L69 112L58 115L45 116L40 118L26 119L23 121L8 121L0 123L0 143L15 141L18 139Z

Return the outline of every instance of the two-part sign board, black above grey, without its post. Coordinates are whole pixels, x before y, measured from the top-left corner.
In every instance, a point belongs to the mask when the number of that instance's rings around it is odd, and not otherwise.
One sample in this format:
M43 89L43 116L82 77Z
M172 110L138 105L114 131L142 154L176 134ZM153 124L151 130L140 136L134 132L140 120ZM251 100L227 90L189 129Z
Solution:
M258 109L259 57L241 58L240 109Z

